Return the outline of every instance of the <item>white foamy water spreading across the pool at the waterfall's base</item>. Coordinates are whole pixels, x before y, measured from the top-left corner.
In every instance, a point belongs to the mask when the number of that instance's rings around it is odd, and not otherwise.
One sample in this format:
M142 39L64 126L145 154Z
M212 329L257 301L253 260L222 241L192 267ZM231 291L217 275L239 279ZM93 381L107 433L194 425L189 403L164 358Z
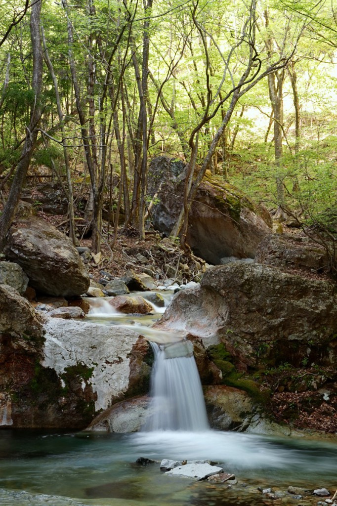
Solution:
M220 432L154 431L132 435L132 442L139 454L156 460L212 460L225 463L227 470L288 470L303 474L303 470L331 474L335 467L336 453L330 457L316 457L303 452L301 447L284 446L286 438L275 438L254 434ZM308 444L303 442L303 444ZM313 444L313 443L312 443ZM323 446L324 443L320 442ZM328 447L328 445L327 445ZM329 457L329 458L328 458Z

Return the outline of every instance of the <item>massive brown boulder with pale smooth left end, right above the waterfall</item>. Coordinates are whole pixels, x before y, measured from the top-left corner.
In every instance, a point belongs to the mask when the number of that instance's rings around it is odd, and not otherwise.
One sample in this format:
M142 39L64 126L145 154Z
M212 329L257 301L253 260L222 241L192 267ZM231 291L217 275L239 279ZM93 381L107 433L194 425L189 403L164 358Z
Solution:
M184 329L206 348L223 342L241 370L262 359L337 362L335 286L260 264L209 268L200 288L176 294L157 326Z

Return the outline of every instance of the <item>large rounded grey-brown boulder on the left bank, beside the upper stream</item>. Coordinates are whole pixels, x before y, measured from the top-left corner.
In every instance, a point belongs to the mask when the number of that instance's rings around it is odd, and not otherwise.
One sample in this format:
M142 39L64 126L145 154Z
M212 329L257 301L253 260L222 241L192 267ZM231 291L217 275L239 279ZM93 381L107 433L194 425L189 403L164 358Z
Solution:
M16 222L5 254L22 267L30 286L39 292L74 297L88 290L88 273L71 240L44 220L32 216Z

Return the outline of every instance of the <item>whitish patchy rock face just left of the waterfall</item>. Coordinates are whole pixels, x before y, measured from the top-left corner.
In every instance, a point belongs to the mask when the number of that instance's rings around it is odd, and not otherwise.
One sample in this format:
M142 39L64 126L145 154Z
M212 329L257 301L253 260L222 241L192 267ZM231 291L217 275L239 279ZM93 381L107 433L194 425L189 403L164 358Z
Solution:
M78 363L93 368L88 382L97 393L96 411L128 390L130 353L139 334L123 327L46 317L41 365L60 375Z

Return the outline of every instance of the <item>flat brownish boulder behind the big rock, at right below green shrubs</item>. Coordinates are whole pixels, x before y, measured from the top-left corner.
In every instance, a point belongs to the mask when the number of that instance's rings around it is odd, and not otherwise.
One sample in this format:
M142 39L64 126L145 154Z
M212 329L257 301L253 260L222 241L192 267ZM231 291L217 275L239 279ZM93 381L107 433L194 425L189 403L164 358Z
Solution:
M284 271L322 273L328 271L327 250L309 237L269 234L259 244L255 261Z

